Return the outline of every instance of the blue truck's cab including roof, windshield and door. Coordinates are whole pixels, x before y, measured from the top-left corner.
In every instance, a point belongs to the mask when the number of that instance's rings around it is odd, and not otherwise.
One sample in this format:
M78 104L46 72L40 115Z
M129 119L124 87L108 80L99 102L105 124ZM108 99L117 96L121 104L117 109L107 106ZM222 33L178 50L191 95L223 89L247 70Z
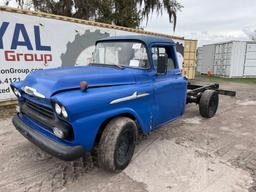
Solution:
M151 116L145 132L183 114L187 80L179 69L173 41L147 36L109 37L96 43L94 56L96 63L132 70L136 82L133 93L139 98L147 96L150 102L150 106L143 107L145 111L148 108L147 117Z

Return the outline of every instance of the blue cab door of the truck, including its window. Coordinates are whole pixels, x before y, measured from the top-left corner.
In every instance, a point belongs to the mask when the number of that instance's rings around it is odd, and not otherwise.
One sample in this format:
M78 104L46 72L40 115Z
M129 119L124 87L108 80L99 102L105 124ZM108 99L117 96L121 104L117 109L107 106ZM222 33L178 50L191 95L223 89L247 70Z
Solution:
M169 122L181 116L185 108L186 81L178 67L176 49L173 45L158 44L152 47L154 68L165 71L156 72L153 80L154 115L153 127Z

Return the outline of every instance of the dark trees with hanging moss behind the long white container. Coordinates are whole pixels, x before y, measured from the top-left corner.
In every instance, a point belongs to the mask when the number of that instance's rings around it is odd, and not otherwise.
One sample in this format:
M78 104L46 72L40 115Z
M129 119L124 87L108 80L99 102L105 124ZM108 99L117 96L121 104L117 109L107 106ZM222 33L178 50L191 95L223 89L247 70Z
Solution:
M24 0L16 1L20 8L24 7ZM30 3L37 11L132 28L138 28L144 18L148 21L154 11L158 14L166 11L173 30L177 12L182 8L177 0L30 0Z

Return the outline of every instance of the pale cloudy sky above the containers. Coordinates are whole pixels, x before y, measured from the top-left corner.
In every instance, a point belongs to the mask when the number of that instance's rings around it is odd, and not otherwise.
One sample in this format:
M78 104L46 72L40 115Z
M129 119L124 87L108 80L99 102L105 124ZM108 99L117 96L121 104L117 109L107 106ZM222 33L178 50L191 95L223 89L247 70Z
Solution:
M256 0L178 0L184 8L178 12L175 33L168 15L153 14L148 31L199 40L199 45L229 40L249 40L256 30Z

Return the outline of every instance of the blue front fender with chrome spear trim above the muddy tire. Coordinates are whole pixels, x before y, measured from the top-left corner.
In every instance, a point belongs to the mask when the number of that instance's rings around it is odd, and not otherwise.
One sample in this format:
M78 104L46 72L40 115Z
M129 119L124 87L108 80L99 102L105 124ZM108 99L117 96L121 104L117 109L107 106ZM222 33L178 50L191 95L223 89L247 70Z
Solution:
M112 102L134 93L147 94L132 100ZM53 99L61 102L69 114L74 142L82 144L88 151L93 147L101 125L109 118L128 113L136 118L142 132L147 133L152 128L153 89L150 84L102 87L86 92L74 90L56 95Z

